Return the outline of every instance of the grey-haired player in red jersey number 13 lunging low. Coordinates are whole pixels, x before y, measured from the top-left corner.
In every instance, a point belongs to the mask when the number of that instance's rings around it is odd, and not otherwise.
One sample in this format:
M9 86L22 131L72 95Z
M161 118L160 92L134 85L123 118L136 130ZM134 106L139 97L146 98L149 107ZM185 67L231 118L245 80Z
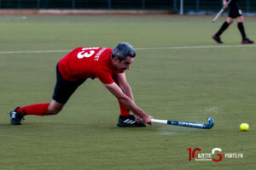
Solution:
M57 81L50 103L18 107L10 111L10 122L20 125L26 115L49 116L58 114L69 97L87 79L99 78L118 99L120 107L119 127L145 127L151 124L148 116L133 100L125 70L129 70L136 53L129 43L121 42L115 48L75 48L57 66ZM134 115L130 115L130 111Z

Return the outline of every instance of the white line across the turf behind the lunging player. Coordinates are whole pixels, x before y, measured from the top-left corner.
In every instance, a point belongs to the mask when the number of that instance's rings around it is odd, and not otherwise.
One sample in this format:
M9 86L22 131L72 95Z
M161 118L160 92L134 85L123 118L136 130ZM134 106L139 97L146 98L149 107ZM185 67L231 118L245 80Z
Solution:
M256 45L216 45L216 46L177 46L160 48L135 48L136 50L160 50L160 49L189 49L189 48L255 48ZM48 54L66 53L72 49L63 50L37 50L37 51L0 51L0 54Z

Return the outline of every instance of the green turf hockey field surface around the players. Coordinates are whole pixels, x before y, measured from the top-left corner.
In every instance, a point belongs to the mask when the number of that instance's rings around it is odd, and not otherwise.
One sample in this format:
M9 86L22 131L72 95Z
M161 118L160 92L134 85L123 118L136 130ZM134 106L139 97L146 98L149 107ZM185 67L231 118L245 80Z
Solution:
M256 169L256 46L239 46L234 23L222 36L226 46L220 47L211 37L224 17L215 24L211 20L1 16L0 169ZM255 21L245 20L253 40ZM212 116L214 127L116 127L118 102L97 79L84 82L57 116L26 116L21 126L9 124L9 111L15 107L51 100L55 65L67 52L47 51L113 48L118 42L137 48L126 72L137 105L158 119L207 122ZM249 131L241 132L242 122L250 125ZM201 153L221 148L244 158L189 162L187 149L196 147Z

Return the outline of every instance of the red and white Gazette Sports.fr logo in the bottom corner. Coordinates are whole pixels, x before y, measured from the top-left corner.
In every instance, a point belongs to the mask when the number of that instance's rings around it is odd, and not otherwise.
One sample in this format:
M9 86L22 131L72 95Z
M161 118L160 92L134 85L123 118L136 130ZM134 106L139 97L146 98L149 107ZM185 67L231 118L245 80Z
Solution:
M210 153L201 153L201 148L188 148L189 151L189 161L224 161L224 159L242 159L243 153L224 153L220 148L213 148Z

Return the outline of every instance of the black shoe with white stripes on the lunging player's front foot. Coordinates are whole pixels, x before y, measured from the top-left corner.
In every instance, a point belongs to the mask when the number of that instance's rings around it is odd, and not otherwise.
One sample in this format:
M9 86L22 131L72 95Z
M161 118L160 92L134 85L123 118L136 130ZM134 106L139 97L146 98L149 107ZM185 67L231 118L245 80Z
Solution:
M119 116L119 123L117 124L118 127L146 127L145 123L143 122L136 122L135 116Z

